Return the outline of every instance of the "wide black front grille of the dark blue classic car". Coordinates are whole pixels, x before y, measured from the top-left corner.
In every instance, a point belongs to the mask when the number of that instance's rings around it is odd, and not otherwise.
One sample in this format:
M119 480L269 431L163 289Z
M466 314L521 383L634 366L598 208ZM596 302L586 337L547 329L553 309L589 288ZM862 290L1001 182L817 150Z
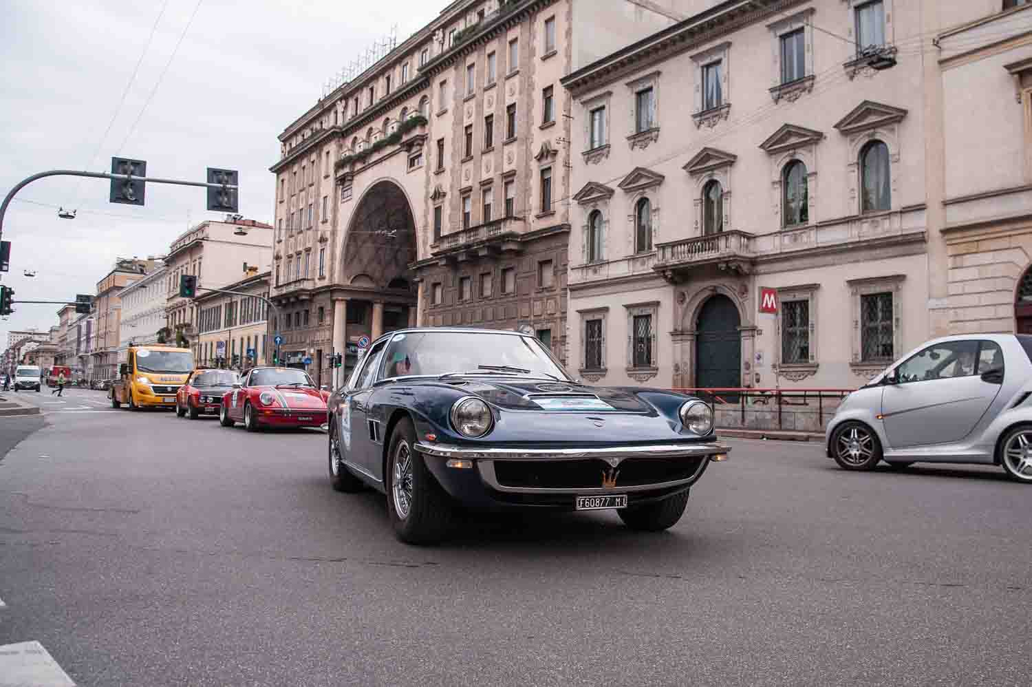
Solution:
M659 485L691 477L699 469L702 457L628 458L617 467L616 485L638 487ZM540 489L598 489L603 486L603 473L612 468L600 459L577 461L494 461L494 475L503 487Z

